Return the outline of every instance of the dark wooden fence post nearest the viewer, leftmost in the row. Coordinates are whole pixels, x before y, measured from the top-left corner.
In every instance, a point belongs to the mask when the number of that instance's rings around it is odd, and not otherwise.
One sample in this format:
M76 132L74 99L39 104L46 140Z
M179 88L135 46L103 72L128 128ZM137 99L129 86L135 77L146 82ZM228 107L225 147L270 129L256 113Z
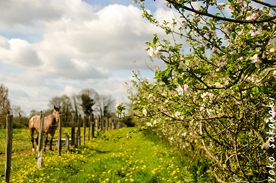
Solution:
M7 115L7 122L6 122L6 165L5 165L6 182L10 182L12 150L13 150L13 115L10 115L10 111L9 111Z

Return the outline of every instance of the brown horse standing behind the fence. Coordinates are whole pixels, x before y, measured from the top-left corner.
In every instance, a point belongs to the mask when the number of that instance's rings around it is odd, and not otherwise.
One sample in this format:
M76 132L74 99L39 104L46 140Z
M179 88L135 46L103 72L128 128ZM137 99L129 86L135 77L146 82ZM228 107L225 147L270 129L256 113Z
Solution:
M45 134L45 147L44 147L44 151L46 151L46 145L48 142L48 134L50 134L50 148L49 150L52 150L52 143L53 143L53 137L55 135L55 131L57 129L57 122L59 120L59 109L60 107L55 107L54 106L54 110L52 111L52 114L46 116L44 118L44 125L43 125L43 132ZM38 132L39 132L39 121L40 121L40 116L36 115L33 116L30 120L29 120L29 129L31 132L31 140L32 140L32 144L33 144L33 152L35 151L35 145L34 145L34 132L35 130L37 131L37 136L36 136L36 143L37 143L37 151L38 151Z

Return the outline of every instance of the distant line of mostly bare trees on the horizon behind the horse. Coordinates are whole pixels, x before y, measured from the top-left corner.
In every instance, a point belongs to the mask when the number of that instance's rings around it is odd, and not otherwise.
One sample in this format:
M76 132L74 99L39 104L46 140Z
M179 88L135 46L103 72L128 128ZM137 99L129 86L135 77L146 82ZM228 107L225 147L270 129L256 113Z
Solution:
M55 96L49 100L49 109L43 111L45 114L50 114L54 106L60 106L60 115L64 115L64 122L69 122L71 113L83 114L86 116L98 115L101 117L114 116L115 99L111 95L98 94L93 88L80 90L71 96L62 95ZM14 116L14 128L28 126L29 118L34 115L39 115L40 111L33 109L30 115L21 109L20 106L12 106L9 100L9 89L4 83L0 85L0 128L6 125L6 116L10 111Z

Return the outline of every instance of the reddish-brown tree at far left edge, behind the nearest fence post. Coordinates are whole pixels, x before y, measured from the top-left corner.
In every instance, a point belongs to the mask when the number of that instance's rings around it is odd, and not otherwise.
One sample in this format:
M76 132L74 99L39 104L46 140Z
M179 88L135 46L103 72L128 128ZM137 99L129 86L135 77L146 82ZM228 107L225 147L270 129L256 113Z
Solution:
M0 85L0 126L3 128L6 124L6 116L11 111L9 100L9 89L3 83Z

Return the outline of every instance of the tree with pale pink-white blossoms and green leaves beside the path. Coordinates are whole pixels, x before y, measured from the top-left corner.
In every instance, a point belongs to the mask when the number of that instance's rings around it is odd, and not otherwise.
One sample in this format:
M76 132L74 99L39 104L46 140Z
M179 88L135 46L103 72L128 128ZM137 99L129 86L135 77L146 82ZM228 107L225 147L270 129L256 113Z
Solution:
M179 18L160 23L144 2L144 17L175 39L155 35L146 43L148 55L166 63L163 70L155 65L155 82L133 72L136 80L128 87L136 113L131 116L149 120L136 131L160 128L180 148L208 156L219 182L272 180L265 165L276 153L264 144L272 136L266 133L266 106L276 92L276 5L168 0ZM184 50L179 41L190 48ZM123 117L124 105L117 110Z

